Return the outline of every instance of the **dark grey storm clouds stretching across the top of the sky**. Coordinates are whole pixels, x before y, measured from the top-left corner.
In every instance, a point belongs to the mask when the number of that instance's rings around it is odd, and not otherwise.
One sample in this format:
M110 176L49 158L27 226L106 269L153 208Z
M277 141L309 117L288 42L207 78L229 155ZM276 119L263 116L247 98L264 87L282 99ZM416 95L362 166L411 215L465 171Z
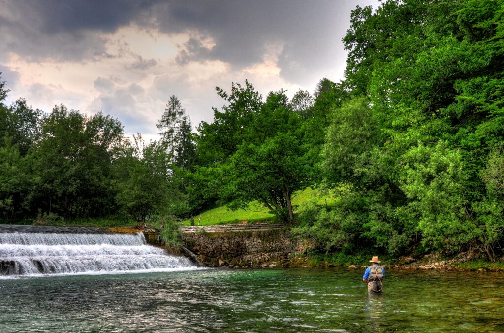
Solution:
M363 0L358 3L376 4ZM299 82L344 61L341 37L356 2L346 1L27 1L0 2L2 53L39 60L85 60L107 56L96 32L135 23L165 33L192 35L177 55L191 61L221 60L234 69L260 63L270 45L283 47L281 75ZM209 48L206 37L215 42ZM0 61L2 59L0 58ZM154 66L139 62L138 69Z

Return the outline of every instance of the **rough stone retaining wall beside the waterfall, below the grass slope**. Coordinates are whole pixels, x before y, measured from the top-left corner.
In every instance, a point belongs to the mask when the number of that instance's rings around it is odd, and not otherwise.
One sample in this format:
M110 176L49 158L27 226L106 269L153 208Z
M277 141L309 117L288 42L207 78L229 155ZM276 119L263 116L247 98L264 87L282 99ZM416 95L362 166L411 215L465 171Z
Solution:
M183 233L185 246L208 266L275 267L299 248L288 229Z

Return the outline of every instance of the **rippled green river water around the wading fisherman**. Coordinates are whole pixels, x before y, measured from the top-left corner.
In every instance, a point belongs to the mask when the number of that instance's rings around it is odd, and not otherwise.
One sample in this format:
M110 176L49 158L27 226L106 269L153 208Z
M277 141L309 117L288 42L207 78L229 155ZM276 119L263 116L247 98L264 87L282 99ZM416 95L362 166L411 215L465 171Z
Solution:
M501 331L504 274L203 269L0 280L0 331Z

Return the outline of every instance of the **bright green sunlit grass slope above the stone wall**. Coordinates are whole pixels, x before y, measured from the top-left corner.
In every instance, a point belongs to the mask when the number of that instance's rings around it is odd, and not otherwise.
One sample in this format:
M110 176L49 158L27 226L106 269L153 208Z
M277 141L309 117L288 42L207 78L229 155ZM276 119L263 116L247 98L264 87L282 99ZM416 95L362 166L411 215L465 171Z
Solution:
M324 196L317 190L307 188L303 191L296 193L292 198L293 205L302 205L309 202L316 202L317 204L325 204L327 198L327 205L333 206L336 203L336 198L332 196ZM200 215L195 216L194 223L198 225ZM248 209L239 209L232 211L227 207L218 207L207 210L201 214L200 226L223 225L239 223L246 221L247 223L255 221L274 222L275 216L268 212L268 209L259 205L258 202L251 202ZM182 222L184 226L190 226L190 220L186 219Z

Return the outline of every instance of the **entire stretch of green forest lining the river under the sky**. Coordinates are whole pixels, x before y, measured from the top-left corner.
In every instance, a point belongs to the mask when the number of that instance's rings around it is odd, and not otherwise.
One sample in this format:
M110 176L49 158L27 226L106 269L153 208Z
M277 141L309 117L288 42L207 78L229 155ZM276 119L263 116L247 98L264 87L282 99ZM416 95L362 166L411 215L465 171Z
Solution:
M313 249L390 255L504 238L504 3L387 1L357 7L345 78L263 98L217 87L224 106L193 127L176 96L160 139L129 140L117 119L64 105L5 104L0 81L0 214L146 220L257 201ZM295 207L314 187L335 206Z

